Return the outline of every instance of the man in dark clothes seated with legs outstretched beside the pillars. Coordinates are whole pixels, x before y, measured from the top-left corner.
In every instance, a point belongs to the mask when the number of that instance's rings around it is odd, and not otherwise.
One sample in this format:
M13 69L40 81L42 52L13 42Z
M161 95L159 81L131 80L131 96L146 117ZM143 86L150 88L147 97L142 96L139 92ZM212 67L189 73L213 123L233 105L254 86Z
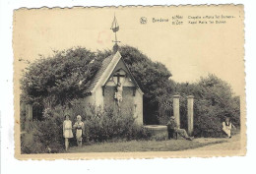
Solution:
M180 135L181 137L183 137L184 139L186 139L188 141L192 141L193 140L193 138L191 138L191 137L189 137L187 135L186 130L178 128L178 125L177 125L177 123L175 121L174 116L170 117L170 120L167 123L167 128L168 128L168 134L177 133L178 135Z

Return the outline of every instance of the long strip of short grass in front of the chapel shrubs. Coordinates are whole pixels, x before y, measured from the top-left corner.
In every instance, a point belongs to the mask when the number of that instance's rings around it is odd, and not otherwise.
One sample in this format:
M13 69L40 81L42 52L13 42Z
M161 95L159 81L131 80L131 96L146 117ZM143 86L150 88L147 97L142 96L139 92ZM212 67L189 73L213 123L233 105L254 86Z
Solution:
M133 151L178 151L197 148L205 145L224 143L223 139L209 139L207 141L130 141L118 143L101 143L94 145L72 146L68 152L133 152Z

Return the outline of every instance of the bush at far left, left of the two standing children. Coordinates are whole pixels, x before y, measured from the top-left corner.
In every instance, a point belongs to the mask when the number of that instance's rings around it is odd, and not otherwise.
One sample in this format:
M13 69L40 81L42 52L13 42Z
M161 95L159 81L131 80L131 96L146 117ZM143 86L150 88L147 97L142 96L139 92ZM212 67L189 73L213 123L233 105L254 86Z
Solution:
M27 128L27 134L21 137L22 153L53 153L64 149L62 137L63 118L47 112L42 121L33 121Z

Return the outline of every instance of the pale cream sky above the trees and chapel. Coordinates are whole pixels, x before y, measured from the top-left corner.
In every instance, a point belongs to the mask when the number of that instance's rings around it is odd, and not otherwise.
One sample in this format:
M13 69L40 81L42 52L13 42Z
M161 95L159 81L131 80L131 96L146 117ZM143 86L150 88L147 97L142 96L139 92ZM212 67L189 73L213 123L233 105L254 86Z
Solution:
M15 77L38 54L83 46L91 50L111 49L114 33L110 29L116 16L119 45L137 47L153 61L164 64L176 82L197 82L215 74L227 82L237 95L244 93L243 10L238 7L119 7L73 9L20 9L14 14ZM172 25L181 16L182 25ZM224 24L189 24L204 16L233 16ZM147 24L141 24L141 18ZM167 22L155 22L154 19ZM196 19L196 20L194 20ZM209 20L205 20L209 21ZM213 20L215 23L216 20Z

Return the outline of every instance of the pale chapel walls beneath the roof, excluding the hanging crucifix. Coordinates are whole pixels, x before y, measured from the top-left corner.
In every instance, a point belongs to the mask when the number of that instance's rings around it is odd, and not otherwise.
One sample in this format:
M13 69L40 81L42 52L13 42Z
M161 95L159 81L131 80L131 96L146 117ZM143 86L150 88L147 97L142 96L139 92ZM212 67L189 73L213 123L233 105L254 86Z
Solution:
M129 72L122 59L117 63L107 82L105 84L101 84L101 86L105 86L104 95L102 87L98 86L96 87L96 91L92 93L91 96L87 96L85 100L91 104L96 104L96 106L101 106L102 108L111 107L115 111L118 111L119 107L116 99L114 98L117 82L112 76L120 69L125 73ZM136 122L138 124L143 124L143 94L136 89L134 95L134 89L136 86L129 74L127 74L126 78L122 79L121 83L123 86L123 99L120 102L120 111L123 115L133 115L136 117Z

